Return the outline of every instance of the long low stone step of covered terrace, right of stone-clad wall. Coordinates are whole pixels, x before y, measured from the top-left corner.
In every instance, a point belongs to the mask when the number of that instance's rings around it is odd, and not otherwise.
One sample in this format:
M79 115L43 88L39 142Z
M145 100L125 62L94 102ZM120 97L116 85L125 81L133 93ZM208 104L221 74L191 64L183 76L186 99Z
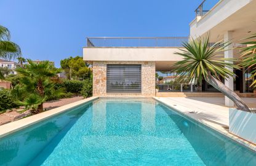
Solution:
M157 92L156 97L224 97L220 92Z

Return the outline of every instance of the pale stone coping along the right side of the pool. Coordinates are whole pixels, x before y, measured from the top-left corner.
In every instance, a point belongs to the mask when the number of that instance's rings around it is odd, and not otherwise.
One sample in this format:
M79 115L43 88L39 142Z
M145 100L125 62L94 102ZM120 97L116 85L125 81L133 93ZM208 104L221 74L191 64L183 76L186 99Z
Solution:
M228 132L228 130L225 130L225 128L223 128L222 125L212 124L210 122L205 122L205 121L199 121L199 119L196 119L195 117L190 116L190 113L186 113L185 111L182 111L182 106L178 106L177 104L175 104L175 107L174 107L171 105L171 103L162 101L160 97L153 97L153 98L154 98L154 100L158 101L159 103L162 103L162 104L168 106L169 108L175 109L175 111L178 111L178 113L182 114L183 116L193 119L194 121L199 122L203 125L206 125L207 127L212 128L216 132L221 133L222 135L230 138L233 141L236 141L237 143L241 144L242 146L246 146L247 148L256 152L256 144L250 143L249 141L246 141L246 140L240 138L239 136L233 135L232 133Z

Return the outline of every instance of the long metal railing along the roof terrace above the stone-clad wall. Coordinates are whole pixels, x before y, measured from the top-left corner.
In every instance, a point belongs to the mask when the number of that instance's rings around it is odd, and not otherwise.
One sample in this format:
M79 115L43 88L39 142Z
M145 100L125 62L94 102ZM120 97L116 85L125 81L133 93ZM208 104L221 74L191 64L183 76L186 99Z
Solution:
M91 37L87 47L182 47L189 37Z

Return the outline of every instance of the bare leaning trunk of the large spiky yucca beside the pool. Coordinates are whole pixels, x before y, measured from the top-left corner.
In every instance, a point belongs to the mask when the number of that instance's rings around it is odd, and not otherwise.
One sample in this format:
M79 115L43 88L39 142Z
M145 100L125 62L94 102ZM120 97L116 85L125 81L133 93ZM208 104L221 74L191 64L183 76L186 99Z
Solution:
M238 107L237 109L252 113L246 103L244 103L244 101L242 101L241 98L233 90L229 89L222 82L218 81L218 79L215 79L215 77L208 74L206 77L206 82L215 87L215 89L222 92L224 95L226 95L226 97L234 101L234 104Z

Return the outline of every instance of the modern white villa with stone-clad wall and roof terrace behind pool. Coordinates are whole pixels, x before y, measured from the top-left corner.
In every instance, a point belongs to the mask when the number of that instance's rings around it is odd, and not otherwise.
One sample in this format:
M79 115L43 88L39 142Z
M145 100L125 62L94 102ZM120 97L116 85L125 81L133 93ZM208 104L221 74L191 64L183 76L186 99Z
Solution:
M250 32L256 32L255 0L221 0L211 9L205 9L204 2L195 10L188 37L87 38L83 54L84 60L94 66L93 95L153 97L157 95L155 72L170 71L175 62L182 60L182 57L174 53L180 51L183 42L210 33L210 42L224 39L225 42L233 42L228 49L239 48L243 46L239 39L246 38ZM227 50L223 57L238 58L239 49ZM236 90L239 95L253 93L249 87L251 80L247 79L248 74L243 73L245 71L235 70L238 77L223 80L225 85ZM203 82L202 92L211 90L212 87ZM233 101L225 98L225 105L233 106Z

